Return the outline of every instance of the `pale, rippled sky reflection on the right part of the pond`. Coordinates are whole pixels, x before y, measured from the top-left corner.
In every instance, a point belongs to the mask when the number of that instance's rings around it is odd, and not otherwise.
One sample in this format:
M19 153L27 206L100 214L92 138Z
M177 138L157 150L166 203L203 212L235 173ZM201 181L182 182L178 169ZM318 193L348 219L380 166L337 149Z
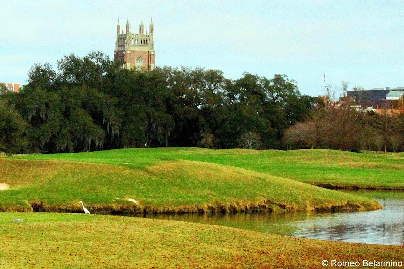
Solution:
M312 239L404 245L404 199L376 199L383 209L370 212L317 214L289 223L291 236Z

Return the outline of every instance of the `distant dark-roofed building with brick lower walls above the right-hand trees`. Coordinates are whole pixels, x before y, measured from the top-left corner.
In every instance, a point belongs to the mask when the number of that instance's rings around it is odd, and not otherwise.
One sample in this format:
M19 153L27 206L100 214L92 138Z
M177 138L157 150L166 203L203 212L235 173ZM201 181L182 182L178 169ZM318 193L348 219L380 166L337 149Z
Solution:
M348 91L351 106L355 106L358 110L398 109L402 104L403 95L404 87Z

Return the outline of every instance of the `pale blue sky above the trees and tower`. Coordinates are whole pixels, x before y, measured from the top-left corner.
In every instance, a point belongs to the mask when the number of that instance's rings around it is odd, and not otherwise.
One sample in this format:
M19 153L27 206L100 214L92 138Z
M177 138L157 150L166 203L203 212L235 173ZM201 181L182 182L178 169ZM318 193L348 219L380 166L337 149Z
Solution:
M285 74L311 96L342 81L404 87L404 1L1 0L0 9L0 82L26 84L35 63L56 68L71 53L112 59L118 18L137 32L153 17L157 66Z

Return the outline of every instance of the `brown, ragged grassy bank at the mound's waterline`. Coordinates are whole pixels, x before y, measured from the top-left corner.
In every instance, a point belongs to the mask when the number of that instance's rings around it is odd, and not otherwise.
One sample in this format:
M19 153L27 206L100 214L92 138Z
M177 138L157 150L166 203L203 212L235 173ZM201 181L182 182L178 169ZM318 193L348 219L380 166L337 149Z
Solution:
M42 201L35 201L30 204L30 209L17 209L16 211L31 212L65 212L65 213L83 213L80 204L76 205L48 205ZM163 206L155 207L150 205L141 205L136 203L112 203L112 204L85 204L85 207L92 214L103 215L121 215L121 216L139 216L146 214L204 214L204 213L239 213L239 212L289 212L289 211L316 211L316 212L337 212L337 211L366 211L380 209L381 205L377 201L371 201L367 204L350 203L341 201L338 204L329 204L321 206L305 205L304 208L298 208L294 205L273 203L270 199L260 202L242 202L233 203L214 202L203 205L183 205L183 206ZM2 211L4 208L0 208Z

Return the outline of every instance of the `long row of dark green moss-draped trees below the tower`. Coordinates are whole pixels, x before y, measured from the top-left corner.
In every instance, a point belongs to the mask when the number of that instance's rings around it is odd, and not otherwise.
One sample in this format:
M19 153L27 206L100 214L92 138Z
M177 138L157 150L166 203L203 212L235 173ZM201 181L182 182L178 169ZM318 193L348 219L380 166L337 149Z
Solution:
M0 92L0 151L131 147L282 149L285 130L321 103L286 75L120 68L101 52L35 64L20 93Z

